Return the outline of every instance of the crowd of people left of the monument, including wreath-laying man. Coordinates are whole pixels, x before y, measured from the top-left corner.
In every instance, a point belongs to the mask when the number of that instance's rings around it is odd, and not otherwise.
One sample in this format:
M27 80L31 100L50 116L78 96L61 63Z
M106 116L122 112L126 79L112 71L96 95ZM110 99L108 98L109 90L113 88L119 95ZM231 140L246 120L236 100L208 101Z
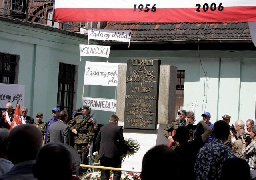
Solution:
M78 180L74 173L81 175L88 171L87 168L81 170L80 164L92 165L88 154L92 153L92 143L96 138L94 131L98 130L96 118L90 115L90 107L82 106L78 110L68 121L66 111L52 108L52 118L45 123L42 122L42 112L36 113L34 122L27 116L28 108L22 107L22 124L9 130L8 121L12 122L14 111L12 104L7 103L0 118L0 180ZM121 168L120 151L123 154L129 152L122 128L117 125L118 120L117 115L110 116L109 124L99 131L96 147L101 164ZM70 146L70 134L74 134L74 147ZM54 169L54 174L49 176L45 167ZM110 171L101 170L101 174L102 180L108 180ZM121 171L114 171L113 179L120 178Z

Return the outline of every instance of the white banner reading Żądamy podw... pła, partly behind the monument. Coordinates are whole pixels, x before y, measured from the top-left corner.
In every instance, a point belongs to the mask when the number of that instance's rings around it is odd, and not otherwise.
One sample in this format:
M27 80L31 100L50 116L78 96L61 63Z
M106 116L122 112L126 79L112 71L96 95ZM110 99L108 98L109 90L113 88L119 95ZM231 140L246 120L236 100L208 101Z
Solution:
M86 61L84 85L117 86L119 64Z

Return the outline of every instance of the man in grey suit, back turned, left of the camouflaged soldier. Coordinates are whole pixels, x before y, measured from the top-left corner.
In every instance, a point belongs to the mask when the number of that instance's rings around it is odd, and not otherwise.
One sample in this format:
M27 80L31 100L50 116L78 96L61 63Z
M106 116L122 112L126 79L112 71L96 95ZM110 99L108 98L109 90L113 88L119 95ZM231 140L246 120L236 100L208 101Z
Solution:
M48 133L48 142L61 142L64 144L69 144L69 127L65 123L68 120L68 114L66 111L61 111L59 114L59 119L51 124Z

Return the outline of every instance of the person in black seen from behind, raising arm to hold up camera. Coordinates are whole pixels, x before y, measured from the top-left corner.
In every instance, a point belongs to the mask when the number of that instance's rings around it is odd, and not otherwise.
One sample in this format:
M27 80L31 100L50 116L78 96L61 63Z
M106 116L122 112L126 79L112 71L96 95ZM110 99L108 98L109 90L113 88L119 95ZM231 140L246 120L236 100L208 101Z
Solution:
M198 126L202 126L203 134L192 141L188 141L190 130L187 126L179 126L176 130L176 140L180 144L174 150L180 159L178 179L194 180L196 154L204 146L204 141L212 134L212 129L204 121L199 121ZM188 151L188 156L184 156ZM186 173L184 173L184 167L186 167Z

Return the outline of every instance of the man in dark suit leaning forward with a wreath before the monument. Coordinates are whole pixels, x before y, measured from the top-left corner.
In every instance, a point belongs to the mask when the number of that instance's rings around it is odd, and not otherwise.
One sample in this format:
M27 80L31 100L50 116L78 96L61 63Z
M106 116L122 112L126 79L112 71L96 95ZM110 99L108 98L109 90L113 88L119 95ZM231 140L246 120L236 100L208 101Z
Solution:
M125 144L123 130L118 126L118 116L112 114L109 123L100 128L100 132L96 138L96 148L98 150L100 165L106 167L121 168L120 154L118 147L125 150L129 154L128 147ZM119 146L117 147L117 144ZM101 180L108 180L110 176L109 170L101 170ZM120 180L121 171L113 171L113 180Z

